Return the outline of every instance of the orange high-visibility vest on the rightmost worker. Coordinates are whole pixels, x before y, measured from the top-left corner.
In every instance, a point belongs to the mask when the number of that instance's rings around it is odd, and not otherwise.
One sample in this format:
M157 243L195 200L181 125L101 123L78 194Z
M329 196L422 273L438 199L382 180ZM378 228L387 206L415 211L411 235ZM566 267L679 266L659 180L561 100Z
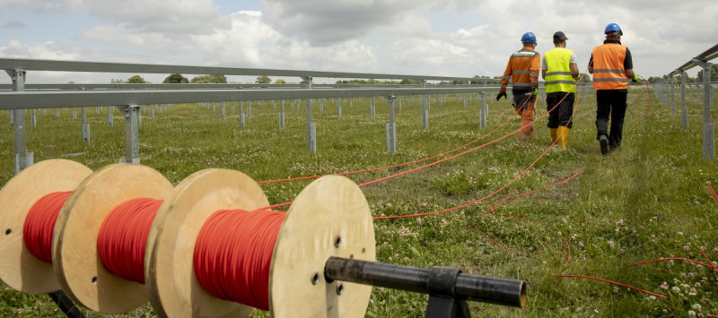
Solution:
M626 47L606 43L593 48L593 90L626 90L628 76L623 63Z

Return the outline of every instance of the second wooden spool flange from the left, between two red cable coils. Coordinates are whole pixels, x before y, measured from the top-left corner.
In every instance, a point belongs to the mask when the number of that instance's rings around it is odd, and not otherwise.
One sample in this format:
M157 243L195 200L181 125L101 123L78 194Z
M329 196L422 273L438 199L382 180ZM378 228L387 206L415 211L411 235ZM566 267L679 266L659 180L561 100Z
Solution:
M57 278L67 296L107 314L126 313L147 302L144 285L105 268L98 254L98 234L102 221L120 203L164 199L172 189L170 181L153 168L130 164L101 168L77 187L57 219L62 227L53 240Z

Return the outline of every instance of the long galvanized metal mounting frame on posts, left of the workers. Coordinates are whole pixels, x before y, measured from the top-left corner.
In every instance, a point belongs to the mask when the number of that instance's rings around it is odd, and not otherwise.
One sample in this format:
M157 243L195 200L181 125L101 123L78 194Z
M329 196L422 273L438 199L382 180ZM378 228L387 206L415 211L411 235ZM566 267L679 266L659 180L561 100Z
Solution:
M481 94L498 90L499 80L468 77L402 75L382 73L318 72L276 69L250 69L215 66L119 64L100 62L77 62L56 60L35 60L0 58L3 68L13 79L12 85L0 85L0 109L14 109L11 120L15 133L15 173L32 164L32 153L26 152L24 113L34 108L115 106L125 115L127 153L120 162L139 163L138 129L141 123L140 105L175 104L207 101L251 101L251 100L296 100L306 99L307 107L307 150L317 150L316 123L312 122L312 99L339 99L358 97L383 97L392 101L398 96L434 94ZM92 73L189 73L223 74L242 76L293 76L302 79L301 84L25 84L29 71L92 72ZM421 85L357 85L357 84L314 84L315 78L346 79L408 79ZM427 82L440 82L428 84ZM470 82L472 85L445 85L444 82ZM481 83L479 86L478 83ZM428 100L425 100L424 124L428 128ZM284 102L283 102L284 103ZM284 106L284 105L283 105ZM323 105L320 104L320 107ZM241 105L240 105L241 107ZM399 99L399 108L401 107ZM486 106L484 106L486 108ZM284 110L284 107L282 107ZM484 111L486 113L486 110ZM244 113L242 112L242 115ZM396 151L396 125L393 112L387 125L387 151ZM112 114L108 122L112 125ZM339 115L340 116L340 115ZM242 117L242 116L241 116ZM90 127L86 125L83 108L83 141L90 141ZM241 120L241 125L242 123ZM33 122L34 123L34 122ZM279 126L284 127L284 111L279 116Z

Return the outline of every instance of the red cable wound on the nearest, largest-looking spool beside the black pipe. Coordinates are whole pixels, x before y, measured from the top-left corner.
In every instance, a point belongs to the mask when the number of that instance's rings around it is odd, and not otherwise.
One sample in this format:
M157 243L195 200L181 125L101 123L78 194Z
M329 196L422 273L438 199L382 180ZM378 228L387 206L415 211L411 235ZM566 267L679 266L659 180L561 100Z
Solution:
M269 268L284 219L282 211L216 211L197 236L199 285L214 297L269 310Z

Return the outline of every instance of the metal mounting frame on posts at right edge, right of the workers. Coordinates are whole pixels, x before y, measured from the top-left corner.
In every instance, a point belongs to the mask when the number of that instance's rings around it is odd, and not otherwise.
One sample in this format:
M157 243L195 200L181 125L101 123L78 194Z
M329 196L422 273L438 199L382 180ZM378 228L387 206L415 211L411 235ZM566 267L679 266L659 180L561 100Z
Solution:
M661 100L671 107L671 114L676 114L676 99L674 94L673 76L680 75L680 127L683 130L688 129L687 107L686 107L686 71L699 66L703 68L703 158L715 158L715 125L711 123L711 107L713 104L713 85L711 84L711 70L713 64L709 61L718 57L718 44L709 48L700 55L692 58L686 64L680 65L679 68L663 76L661 83L653 84L653 90L661 97ZM670 82L670 91L668 91L668 83ZM670 95L670 97L668 96Z

